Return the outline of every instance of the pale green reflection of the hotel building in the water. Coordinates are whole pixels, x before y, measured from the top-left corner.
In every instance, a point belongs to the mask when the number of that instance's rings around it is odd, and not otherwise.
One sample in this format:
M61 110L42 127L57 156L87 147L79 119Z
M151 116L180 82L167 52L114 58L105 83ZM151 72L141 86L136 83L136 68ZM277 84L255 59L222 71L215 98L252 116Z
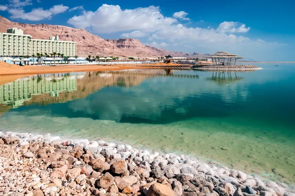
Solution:
M23 105L33 95L49 93L50 97L58 97L59 93L77 90L76 74L35 75L21 78L0 86L0 104L13 108Z

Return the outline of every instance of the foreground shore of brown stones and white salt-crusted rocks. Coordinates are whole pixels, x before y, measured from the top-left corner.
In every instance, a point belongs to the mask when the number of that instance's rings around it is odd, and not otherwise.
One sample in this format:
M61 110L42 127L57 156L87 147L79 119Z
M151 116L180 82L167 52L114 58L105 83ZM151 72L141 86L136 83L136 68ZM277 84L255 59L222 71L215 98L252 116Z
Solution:
M58 136L0 132L0 196L295 196L184 155Z

